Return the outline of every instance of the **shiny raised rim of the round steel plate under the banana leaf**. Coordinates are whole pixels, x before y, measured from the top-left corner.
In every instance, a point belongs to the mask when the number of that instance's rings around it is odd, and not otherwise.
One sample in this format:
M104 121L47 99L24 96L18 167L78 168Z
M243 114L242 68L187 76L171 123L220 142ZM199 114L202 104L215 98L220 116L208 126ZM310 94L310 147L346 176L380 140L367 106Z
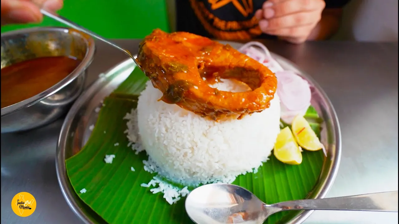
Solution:
M335 140L336 148L335 148L334 156L331 158L330 166L326 167L326 162L323 163L322 170L329 169L328 175L325 177L323 183L319 183L320 180L318 180L318 182L317 182L318 184L312 190L312 191L315 191L313 198L315 198L315 199L324 198L327 195L328 191L331 189L331 187L336 179L338 169L340 166L341 154L342 154L341 130L340 130L340 125L338 122L338 117L337 117L336 111L334 109L334 106L332 105L332 102L328 98L327 94L320 87L320 85L318 83L316 83L316 81L314 81L314 79L310 75L308 75L308 73L301 70L292 61L290 61L280 55L277 55L273 52L271 52L271 55L275 59L278 59L278 61L284 61L285 63L289 63L294 68L296 68L298 71L300 71L300 73L302 75L304 75L306 77L306 79L308 79L308 81L310 81L311 84L318 90L318 92L322 96L323 100L325 100L326 103L328 104L328 113L331 115L331 122L334 127L332 132L334 132L334 136L335 136L334 140ZM105 74L109 74L117 67L120 67L120 66L128 64L128 63L132 63L131 59L126 59L125 61L122 61L121 63L115 65L114 67L109 69ZM93 224L93 222L85 214L85 212L83 212L79 208L79 206L75 202L76 199L73 197L73 195L70 192L71 189L69 189L69 187L67 186L69 179L67 177L67 173L66 173L66 169L65 169L65 149L66 149L65 143L67 142L67 137L68 137L69 129L72 124L73 118L74 118L75 114L77 113L77 111L79 110L80 104L83 103L82 99L87 98L89 96L93 96L93 94L95 94L95 90L97 88L100 88L100 86L103 83L105 83L106 81L107 81L107 79L104 79L104 78L98 79L89 88L87 88L87 90L83 94L81 94L81 96L79 96L79 98L75 101L75 103L71 107L71 110L69 110L69 112L64 120L64 123L61 128L61 132L59 135L59 139L57 141L55 166L56 166L57 179L58 179L59 186L61 188L61 192L62 192L65 200L67 201L67 204L71 207L73 212L81 220L83 220L83 222L85 222L86 224ZM73 191L73 189L72 189L72 191ZM78 198L78 200L80 200L80 198ZM303 210L298 215L296 215L294 218L289 220L287 222L287 224L301 224L312 214L313 211L314 210Z

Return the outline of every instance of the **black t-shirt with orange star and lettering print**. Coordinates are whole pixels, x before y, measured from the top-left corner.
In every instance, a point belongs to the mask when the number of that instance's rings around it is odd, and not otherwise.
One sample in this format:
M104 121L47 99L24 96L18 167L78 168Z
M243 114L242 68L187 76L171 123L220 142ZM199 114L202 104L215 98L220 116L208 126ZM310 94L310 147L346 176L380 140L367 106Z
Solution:
M349 0L325 0L342 8ZM259 29L255 12L265 0L176 0L177 31L224 40L274 38Z

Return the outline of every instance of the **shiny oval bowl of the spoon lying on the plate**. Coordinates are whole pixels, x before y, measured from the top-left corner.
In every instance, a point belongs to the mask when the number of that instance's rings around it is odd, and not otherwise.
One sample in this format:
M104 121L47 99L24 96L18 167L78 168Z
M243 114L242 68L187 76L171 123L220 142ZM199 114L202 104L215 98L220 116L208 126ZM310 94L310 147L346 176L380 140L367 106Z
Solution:
M208 184L186 198L186 212L197 224L262 223L269 215L265 204L237 185Z

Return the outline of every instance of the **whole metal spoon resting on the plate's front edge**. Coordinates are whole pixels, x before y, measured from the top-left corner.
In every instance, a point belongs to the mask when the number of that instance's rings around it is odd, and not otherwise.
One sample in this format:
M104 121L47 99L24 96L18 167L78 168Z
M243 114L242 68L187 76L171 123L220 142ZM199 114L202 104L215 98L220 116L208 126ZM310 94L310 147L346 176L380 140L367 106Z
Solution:
M186 198L186 212L197 224L263 223L271 214L285 210L398 212L398 192L265 204L242 187L219 183L198 187Z

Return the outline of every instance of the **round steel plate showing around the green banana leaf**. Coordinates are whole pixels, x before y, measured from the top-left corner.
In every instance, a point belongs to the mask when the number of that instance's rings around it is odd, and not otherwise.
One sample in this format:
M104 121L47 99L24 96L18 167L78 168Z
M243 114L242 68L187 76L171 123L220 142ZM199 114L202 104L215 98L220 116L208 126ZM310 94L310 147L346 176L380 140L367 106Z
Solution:
M223 43L229 43L236 49L242 45L225 41ZM274 53L271 54L284 69L296 71L314 87L312 88L311 103L324 119L321 142L326 147L327 157L324 160L318 182L307 198L324 198L337 175L341 158L341 132L336 112L325 92L309 75L287 59ZM85 145L91 134L89 126L97 121L98 113L95 112L95 108L101 106L101 101L130 75L134 67L134 62L131 59L127 59L108 72L101 74L99 79L73 104L61 128L55 161L58 182L68 205L87 224L103 223L105 221L98 215L95 216L94 220L87 215L90 209L73 190L65 170L65 159L77 153ZM300 224L312 212L312 210L303 211L290 220L288 224Z

